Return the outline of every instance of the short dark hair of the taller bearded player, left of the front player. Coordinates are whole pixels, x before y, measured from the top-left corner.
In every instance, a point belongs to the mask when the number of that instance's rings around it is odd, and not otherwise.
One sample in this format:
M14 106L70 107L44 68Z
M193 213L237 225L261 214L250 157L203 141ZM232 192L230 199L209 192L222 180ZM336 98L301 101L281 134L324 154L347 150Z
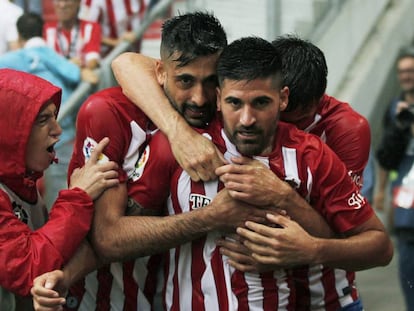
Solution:
M226 33L210 13L193 12L166 20L162 26L161 59L179 56L175 61L185 66L192 60L221 52L227 45Z

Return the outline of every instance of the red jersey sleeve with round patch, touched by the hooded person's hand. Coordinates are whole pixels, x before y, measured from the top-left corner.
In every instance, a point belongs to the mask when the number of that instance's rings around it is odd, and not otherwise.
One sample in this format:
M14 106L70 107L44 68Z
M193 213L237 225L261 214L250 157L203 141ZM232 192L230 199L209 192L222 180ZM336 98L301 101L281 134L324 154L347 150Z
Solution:
M127 176L122 169L122 164L125 146L128 146L129 139L123 126L124 120L110 100L106 96L92 95L79 110L76 121L76 139L68 176L75 168L85 164L99 141L108 137L110 142L104 149L102 157L115 161L119 167L119 181L126 181Z

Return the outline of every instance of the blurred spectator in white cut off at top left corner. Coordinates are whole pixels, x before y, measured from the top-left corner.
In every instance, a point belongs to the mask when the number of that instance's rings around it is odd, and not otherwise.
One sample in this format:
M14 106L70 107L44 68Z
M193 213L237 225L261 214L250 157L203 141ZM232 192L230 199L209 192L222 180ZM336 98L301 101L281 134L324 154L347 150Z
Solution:
M16 21L23 10L9 0L0 0L0 55L18 48Z

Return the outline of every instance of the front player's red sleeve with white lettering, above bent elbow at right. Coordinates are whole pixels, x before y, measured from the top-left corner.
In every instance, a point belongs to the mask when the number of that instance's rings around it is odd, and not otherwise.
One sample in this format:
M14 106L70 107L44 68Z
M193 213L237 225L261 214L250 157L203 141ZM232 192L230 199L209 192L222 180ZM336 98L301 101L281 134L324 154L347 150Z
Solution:
M313 171L311 180L308 180L308 187L312 187L310 204L337 232L363 224L373 215L373 210L349 177L344 163L322 142L313 153L318 155L310 168Z

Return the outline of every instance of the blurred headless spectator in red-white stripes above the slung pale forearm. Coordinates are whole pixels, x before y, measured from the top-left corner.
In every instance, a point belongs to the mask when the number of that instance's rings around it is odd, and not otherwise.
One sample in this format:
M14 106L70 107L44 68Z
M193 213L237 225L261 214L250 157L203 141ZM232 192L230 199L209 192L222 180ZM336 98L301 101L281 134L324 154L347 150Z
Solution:
M102 27L102 55L107 54L120 41L135 41L150 0L82 0L79 17L98 22ZM134 48L139 50L139 43Z

